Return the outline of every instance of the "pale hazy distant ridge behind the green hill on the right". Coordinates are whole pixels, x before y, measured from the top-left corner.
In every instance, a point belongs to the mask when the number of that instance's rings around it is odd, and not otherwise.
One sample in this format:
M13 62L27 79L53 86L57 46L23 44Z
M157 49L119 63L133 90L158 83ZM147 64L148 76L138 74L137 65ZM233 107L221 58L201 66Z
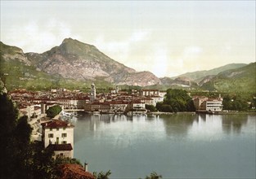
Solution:
M197 72L186 72L180 76L172 77L172 79L175 79L177 77L187 77L190 78L191 81L200 82L204 79L205 76L215 76L218 75L219 72L224 72L226 70L236 69L245 67L246 63L231 63L227 64L225 66L219 67L219 68L213 68L211 70L204 70L204 71L197 71Z

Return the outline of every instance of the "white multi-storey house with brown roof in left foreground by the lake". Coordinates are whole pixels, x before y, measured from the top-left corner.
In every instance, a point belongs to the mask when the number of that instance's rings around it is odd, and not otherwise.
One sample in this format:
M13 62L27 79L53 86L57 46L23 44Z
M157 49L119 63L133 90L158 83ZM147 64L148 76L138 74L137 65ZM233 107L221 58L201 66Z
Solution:
M45 148L50 148L57 155L73 158L74 125L62 120L51 120L42 124Z

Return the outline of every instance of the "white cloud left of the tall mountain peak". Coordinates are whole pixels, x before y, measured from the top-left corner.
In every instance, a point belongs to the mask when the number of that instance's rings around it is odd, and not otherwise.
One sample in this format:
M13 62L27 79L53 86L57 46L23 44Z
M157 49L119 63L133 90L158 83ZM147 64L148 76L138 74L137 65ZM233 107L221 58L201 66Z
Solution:
M70 27L59 21L50 20L44 23L29 21L16 29L7 31L6 41L11 41L13 45L19 46L25 52L42 53L53 46L61 44L65 37L71 36Z

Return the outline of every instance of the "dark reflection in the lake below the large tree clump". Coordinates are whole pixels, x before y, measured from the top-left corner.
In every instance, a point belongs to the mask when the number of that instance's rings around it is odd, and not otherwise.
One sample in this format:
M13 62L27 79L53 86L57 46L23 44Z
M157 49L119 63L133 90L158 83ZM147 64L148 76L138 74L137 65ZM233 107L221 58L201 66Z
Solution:
M177 114L172 116L160 116L164 121L164 127L169 137L185 138L193 122L198 120L194 114Z

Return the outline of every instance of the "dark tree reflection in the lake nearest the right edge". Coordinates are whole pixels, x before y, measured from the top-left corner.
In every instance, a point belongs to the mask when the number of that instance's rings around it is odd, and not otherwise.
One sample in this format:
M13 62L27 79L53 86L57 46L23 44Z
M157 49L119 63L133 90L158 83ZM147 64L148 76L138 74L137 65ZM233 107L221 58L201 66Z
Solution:
M225 133L240 133L243 125L247 124L247 115L223 115L222 130Z

